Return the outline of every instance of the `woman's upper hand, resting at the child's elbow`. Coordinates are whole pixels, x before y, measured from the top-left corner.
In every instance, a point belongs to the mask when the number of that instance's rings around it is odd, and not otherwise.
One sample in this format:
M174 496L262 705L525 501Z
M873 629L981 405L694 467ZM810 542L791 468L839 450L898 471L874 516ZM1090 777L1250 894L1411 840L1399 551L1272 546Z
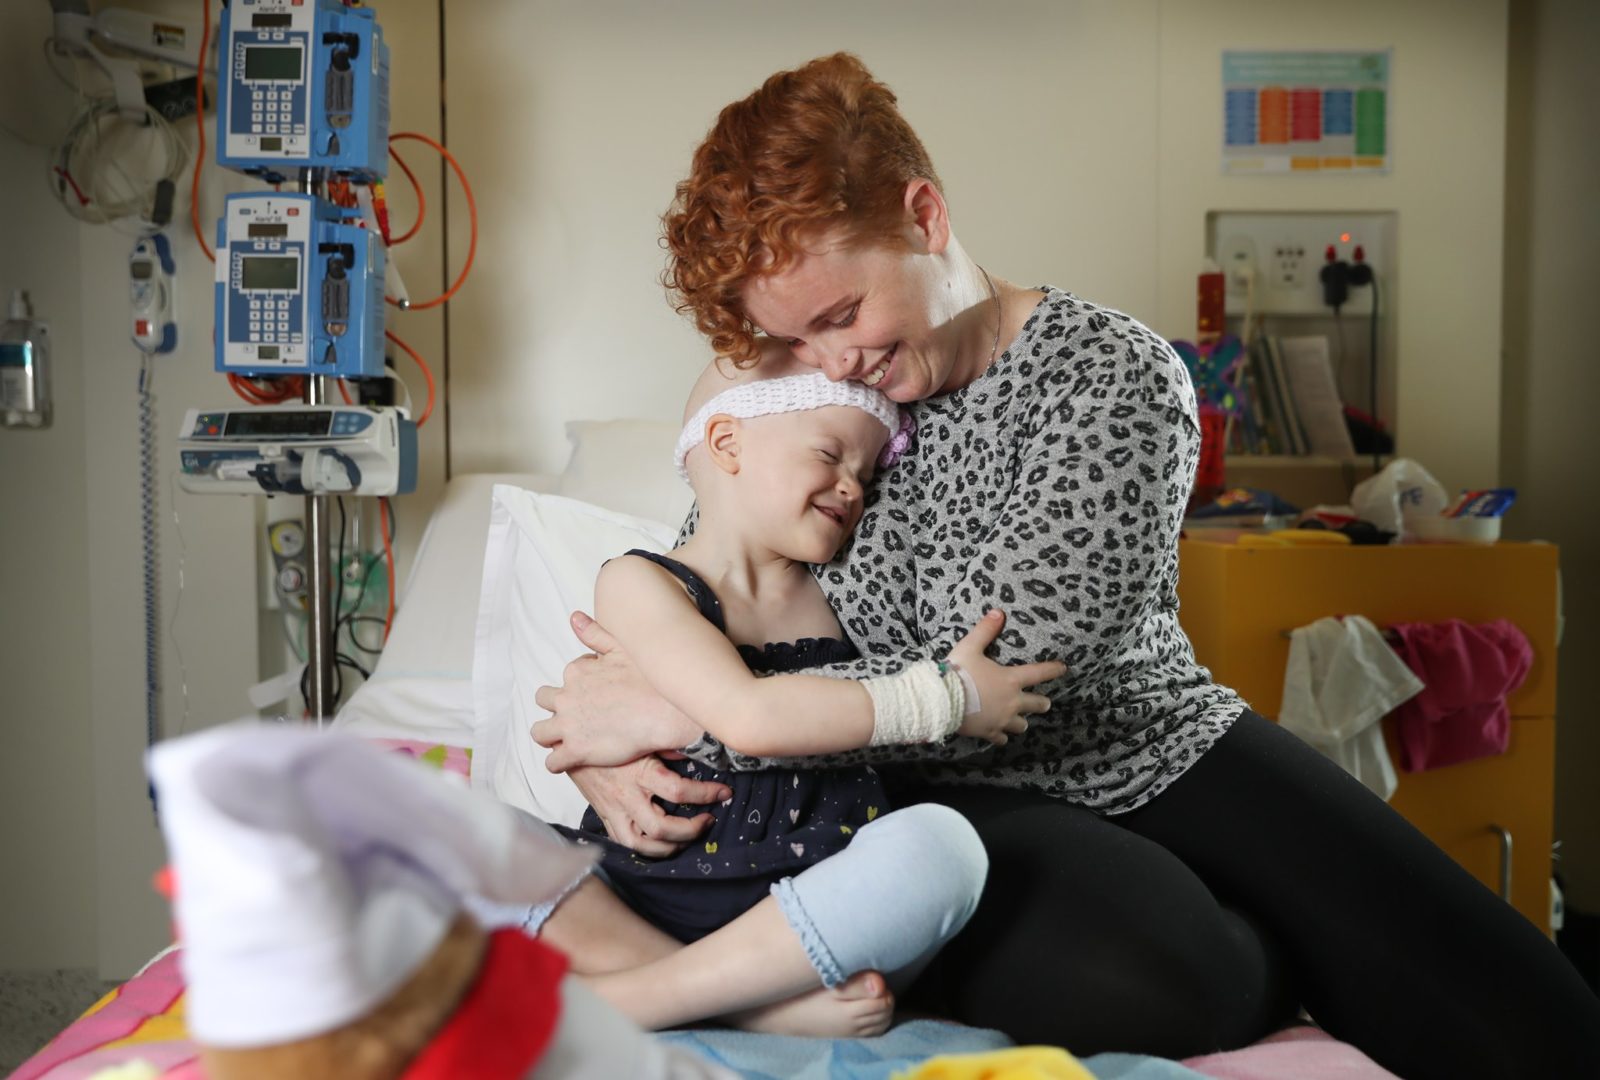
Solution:
M651 690L605 627L574 611L573 632L594 654L568 664L560 686L534 693L539 707L552 714L531 728L533 741L550 747L547 770L624 765L678 750L701 736L699 725Z

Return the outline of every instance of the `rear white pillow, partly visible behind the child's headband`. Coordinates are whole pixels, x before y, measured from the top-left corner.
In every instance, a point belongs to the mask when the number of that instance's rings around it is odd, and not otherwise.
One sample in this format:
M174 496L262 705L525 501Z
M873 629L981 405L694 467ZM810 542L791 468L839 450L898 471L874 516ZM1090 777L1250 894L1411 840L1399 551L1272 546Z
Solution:
M570 421L557 491L651 522L680 525L694 493L672 464L678 426L646 419Z

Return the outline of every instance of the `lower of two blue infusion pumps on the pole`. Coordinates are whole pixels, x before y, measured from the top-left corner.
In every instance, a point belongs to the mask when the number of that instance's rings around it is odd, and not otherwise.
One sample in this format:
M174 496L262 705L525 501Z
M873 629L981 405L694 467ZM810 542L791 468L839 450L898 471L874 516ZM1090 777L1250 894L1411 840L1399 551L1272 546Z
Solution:
M216 248L218 371L384 373L384 245L352 213L315 195L227 197Z

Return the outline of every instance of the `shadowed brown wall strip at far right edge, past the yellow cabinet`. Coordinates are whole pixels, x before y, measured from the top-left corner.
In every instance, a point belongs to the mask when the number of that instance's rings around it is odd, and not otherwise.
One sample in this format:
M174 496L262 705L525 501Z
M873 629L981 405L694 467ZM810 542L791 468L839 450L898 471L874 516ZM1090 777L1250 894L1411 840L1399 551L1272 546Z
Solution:
M1555 835L1573 907L1600 910L1600 517L1594 410L1600 402L1600 122L1594 54L1600 6L1512 0L1506 166L1504 480L1507 528L1562 546Z

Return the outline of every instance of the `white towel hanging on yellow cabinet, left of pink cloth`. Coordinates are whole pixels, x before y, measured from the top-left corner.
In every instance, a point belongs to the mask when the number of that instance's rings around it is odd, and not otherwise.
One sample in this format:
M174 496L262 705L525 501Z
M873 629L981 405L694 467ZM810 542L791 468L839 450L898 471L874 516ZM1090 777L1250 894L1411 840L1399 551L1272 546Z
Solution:
M1421 691L1370 619L1317 619L1290 635L1278 723L1387 802L1397 781L1378 722Z

